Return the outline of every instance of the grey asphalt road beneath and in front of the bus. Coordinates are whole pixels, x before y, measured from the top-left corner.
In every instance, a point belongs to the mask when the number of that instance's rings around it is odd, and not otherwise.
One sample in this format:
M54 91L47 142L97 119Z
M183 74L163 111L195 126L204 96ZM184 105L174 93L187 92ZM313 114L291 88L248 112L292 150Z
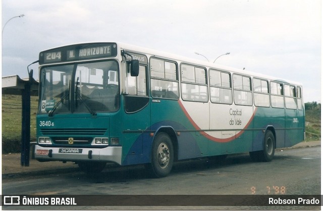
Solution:
M168 177L160 179L148 178L142 166L106 169L96 178L72 172L46 178L5 179L3 194L319 195L320 147L276 150L274 160L266 163L252 162L248 154L228 156L222 164L185 161L177 163Z

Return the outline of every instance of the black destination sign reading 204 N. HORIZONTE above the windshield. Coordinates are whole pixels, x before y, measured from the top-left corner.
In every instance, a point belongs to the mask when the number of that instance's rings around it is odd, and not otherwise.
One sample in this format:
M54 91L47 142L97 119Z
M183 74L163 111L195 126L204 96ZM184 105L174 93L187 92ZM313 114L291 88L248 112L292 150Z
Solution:
M93 43L61 47L40 52L39 63L76 61L117 56L117 44Z

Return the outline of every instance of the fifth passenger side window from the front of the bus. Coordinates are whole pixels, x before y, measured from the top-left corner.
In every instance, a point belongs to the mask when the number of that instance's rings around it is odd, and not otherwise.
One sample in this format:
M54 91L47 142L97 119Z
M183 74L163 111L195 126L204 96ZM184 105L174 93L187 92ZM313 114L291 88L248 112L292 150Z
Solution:
M253 78L253 98L255 106L270 107L267 80Z

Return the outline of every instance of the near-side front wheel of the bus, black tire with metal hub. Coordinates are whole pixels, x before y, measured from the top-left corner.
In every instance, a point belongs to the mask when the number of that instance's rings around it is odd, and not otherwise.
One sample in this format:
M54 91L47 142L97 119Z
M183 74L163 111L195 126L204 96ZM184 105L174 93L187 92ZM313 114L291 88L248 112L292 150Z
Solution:
M166 177L170 174L174 162L174 147L166 133L158 133L152 143L149 173L154 178Z

